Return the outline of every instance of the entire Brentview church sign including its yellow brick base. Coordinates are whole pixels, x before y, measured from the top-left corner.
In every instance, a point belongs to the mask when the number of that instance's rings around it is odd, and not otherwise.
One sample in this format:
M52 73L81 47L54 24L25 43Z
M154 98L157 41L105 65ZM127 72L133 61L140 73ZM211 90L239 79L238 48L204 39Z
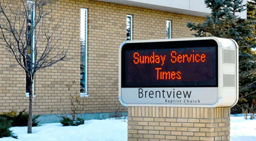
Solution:
M119 101L128 107L128 141L229 141L238 45L215 37L124 42Z

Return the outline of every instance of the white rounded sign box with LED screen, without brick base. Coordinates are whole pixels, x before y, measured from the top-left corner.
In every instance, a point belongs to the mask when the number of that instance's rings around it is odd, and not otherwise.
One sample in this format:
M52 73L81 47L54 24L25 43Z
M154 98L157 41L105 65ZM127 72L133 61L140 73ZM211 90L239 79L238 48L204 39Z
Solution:
M236 60L237 44L230 39L127 41L119 50L119 100L125 106L232 106ZM231 73L225 74L225 67ZM230 102L223 99L227 90L234 91Z

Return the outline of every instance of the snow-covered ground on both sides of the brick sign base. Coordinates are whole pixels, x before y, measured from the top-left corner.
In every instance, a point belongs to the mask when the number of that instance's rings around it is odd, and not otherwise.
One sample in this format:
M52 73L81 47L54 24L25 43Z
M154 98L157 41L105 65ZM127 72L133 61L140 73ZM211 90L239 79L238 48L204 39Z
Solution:
M33 127L12 127L18 139L1 138L0 141L127 141L127 120L89 120L84 125L62 127L60 123ZM256 120L231 117L231 141L256 141Z

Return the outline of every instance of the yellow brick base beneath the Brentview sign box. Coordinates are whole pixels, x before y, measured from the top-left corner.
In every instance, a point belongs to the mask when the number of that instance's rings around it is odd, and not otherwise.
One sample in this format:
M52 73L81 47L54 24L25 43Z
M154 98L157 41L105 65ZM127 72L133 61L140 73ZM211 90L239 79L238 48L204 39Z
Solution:
M128 107L128 141L230 140L230 107Z

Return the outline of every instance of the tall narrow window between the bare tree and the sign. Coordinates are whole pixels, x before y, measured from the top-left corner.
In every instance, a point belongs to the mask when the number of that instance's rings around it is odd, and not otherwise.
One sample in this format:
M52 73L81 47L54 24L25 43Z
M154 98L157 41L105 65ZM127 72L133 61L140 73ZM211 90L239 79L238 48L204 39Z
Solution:
M81 45L81 63L80 63L80 96L87 94L87 9L81 8L80 17L80 45Z

